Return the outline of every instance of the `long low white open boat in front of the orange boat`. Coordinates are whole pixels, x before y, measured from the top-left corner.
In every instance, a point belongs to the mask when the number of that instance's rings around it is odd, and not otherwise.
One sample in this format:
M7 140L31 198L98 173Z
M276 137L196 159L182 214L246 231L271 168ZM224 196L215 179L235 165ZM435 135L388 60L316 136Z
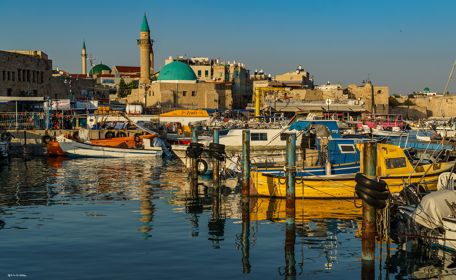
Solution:
M70 157L101 157L101 158L127 158L127 157L161 157L163 150L160 138L144 139L137 144L141 148L118 148L109 146L94 145L90 141L74 141L63 136L56 137L57 142ZM158 140L155 140L158 139ZM155 140L155 146L153 142ZM157 143L161 141L161 143Z

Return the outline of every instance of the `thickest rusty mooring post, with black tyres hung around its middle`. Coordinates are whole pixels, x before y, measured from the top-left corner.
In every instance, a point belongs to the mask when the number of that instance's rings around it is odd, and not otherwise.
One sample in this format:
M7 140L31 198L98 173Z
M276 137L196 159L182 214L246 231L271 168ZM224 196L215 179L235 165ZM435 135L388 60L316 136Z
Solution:
M363 173L366 176L377 175L377 144L364 142L363 145ZM375 278L375 208L363 201L363 225L361 232L361 279Z

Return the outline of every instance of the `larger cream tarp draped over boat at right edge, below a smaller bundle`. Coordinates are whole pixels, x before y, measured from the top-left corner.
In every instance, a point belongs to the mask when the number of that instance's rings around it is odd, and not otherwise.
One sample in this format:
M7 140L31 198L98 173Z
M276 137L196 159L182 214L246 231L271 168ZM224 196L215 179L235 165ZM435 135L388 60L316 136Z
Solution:
M442 218L451 214L445 199L449 203L456 203L456 193L449 189L442 189L426 194L412 214L412 219L430 229L443 226Z

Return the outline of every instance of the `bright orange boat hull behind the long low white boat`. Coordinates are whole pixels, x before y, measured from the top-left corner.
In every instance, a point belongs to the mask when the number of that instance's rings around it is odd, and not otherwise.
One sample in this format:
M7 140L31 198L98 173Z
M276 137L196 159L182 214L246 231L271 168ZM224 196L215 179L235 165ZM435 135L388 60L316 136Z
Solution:
M100 146L111 146L116 147L125 143L124 145L135 148L136 143L142 142L143 139L153 139L157 135L156 134L147 134L147 135L136 135L131 137L116 137L116 138L104 138L104 139L90 139L90 142L94 145ZM65 138L72 139L78 141L78 139L71 136L69 133L65 133ZM57 141L47 141L47 153L50 156L66 156L67 154L63 152L62 148L60 148Z

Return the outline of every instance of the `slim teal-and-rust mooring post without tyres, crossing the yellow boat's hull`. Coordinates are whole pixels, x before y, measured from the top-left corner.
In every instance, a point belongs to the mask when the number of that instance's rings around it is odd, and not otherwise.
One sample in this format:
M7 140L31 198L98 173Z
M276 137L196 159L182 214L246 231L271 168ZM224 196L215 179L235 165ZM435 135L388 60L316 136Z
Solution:
M286 134L285 160L285 224L295 224L295 185L296 185L296 134Z

